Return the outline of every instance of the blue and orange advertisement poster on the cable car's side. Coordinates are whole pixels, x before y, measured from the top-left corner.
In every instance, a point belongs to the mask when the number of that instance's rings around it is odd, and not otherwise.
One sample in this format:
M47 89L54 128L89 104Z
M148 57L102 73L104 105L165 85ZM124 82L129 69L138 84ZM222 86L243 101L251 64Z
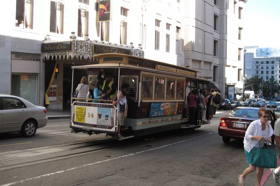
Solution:
M178 103L152 103L150 110L150 117L176 115L178 110Z

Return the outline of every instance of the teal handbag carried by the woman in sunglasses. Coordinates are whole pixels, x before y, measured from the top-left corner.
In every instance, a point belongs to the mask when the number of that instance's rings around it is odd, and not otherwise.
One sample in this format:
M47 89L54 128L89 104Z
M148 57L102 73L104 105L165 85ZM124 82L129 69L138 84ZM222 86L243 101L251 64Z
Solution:
M267 145L266 141L264 140ZM261 149L259 142L259 149L252 149L251 165L261 168L276 168L277 166L277 153L274 150Z

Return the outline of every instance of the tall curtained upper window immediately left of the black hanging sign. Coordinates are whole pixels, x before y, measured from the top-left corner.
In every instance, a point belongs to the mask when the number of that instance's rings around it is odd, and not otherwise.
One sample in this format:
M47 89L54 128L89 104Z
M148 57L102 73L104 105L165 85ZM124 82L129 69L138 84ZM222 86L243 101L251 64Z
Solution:
M88 34L88 11L78 9L78 37Z

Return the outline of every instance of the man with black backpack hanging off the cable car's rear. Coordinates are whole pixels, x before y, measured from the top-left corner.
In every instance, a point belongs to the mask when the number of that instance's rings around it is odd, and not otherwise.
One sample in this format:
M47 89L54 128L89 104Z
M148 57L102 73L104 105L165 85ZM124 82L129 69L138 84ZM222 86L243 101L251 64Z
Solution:
M208 110L208 120L207 120L207 124L211 123L211 119L213 118L213 115L216 115L216 110L218 105L220 104L221 101L221 95L219 93L219 89L213 89L211 88L210 90L213 90L213 93L209 93L205 90L205 93L209 96L213 96L211 99L211 103L209 105L209 110Z

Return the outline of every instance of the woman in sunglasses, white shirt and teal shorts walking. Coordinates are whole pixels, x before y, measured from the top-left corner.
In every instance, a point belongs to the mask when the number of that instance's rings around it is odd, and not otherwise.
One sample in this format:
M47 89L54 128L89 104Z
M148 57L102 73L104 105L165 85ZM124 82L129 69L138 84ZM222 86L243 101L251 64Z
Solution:
M244 151L247 157L247 163L249 163L249 167L245 169L243 174L238 176L239 186L244 186L245 177L248 174L254 172L257 168L250 164L253 148L259 148L259 142L261 143L261 148L264 148L264 139L268 141L267 144L270 145L269 143L271 142L270 137L273 135L273 129L272 126L270 125L271 121L268 121L270 112L264 107L261 107L258 111L258 115L259 115L259 119L253 121L248 126L247 131L245 133L243 143L244 143ZM258 167L256 186L261 186L261 177L263 173L264 173L264 168Z

